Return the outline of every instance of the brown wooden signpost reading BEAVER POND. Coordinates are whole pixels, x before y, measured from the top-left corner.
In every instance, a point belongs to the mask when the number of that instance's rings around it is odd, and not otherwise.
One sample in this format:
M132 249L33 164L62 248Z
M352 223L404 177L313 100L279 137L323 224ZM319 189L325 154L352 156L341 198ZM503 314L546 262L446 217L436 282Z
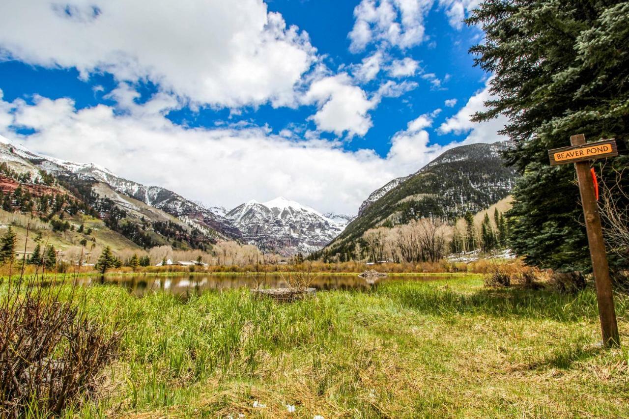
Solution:
M550 157L551 165L574 163L574 168L577 170L583 215L586 221L587 243L592 258L594 281L596 281L596 299L601 318L603 345L619 346L620 337L611 293L610 267L607 264L601 216L598 213L594 182L589 167L589 160L616 156L618 149L615 140L586 143L586 137L583 134L572 135L570 142L571 147L548 150L548 157Z

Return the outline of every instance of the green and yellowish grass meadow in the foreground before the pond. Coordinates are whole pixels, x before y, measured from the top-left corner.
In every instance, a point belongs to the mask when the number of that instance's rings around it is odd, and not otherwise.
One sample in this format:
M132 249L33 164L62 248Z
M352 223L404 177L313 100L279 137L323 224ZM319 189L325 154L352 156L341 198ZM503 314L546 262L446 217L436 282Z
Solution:
M87 292L93 318L126 330L98 398L67 416L273 418L287 403L305 418L629 415L629 352L597 345L591 290L491 290L476 276L292 304L243 289ZM629 344L628 310L618 296Z

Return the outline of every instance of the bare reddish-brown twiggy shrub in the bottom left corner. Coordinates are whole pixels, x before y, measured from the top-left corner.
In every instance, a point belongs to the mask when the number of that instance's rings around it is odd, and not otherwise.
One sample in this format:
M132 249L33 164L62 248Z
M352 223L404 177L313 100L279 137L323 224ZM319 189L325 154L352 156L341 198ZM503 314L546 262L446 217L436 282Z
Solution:
M58 415L96 388L120 333L89 320L84 300L43 279L8 280L0 301L0 416ZM66 298L60 298L66 295Z

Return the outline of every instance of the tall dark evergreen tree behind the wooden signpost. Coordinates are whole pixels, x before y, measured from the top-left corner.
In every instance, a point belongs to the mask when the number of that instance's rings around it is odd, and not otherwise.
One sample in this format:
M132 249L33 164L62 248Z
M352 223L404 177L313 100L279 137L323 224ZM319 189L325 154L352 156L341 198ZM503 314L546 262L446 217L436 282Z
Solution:
M493 74L495 97L474 119L509 118L503 133L513 148L506 157L521 174L505 226L509 247L540 267L590 271L574 167L550 167L547 150L570 145L579 133L589 140L616 138L626 147L629 3L487 0L467 23L485 32L484 43L470 52ZM601 173L601 162L596 165ZM627 165L626 155L611 159L603 179ZM622 182L620 189L629 190L629 178ZM610 258L613 268L628 264Z

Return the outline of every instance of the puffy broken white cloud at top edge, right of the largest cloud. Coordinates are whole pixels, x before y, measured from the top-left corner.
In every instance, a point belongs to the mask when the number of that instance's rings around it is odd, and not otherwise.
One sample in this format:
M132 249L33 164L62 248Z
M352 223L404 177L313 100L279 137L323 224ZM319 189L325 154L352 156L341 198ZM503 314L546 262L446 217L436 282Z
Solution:
M370 43L409 48L424 39L424 17L432 0L362 0L354 9L350 50L360 52Z

